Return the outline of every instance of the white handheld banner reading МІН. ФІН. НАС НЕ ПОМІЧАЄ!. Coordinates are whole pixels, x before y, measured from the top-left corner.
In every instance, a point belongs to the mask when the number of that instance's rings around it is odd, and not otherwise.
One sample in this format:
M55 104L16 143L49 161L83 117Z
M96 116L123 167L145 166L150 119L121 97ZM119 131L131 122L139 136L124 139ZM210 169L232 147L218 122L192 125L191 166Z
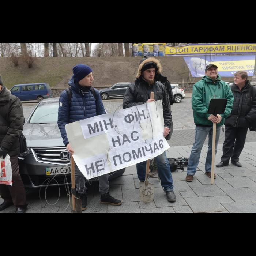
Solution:
M162 101L65 126L74 160L87 180L161 155L170 148Z

